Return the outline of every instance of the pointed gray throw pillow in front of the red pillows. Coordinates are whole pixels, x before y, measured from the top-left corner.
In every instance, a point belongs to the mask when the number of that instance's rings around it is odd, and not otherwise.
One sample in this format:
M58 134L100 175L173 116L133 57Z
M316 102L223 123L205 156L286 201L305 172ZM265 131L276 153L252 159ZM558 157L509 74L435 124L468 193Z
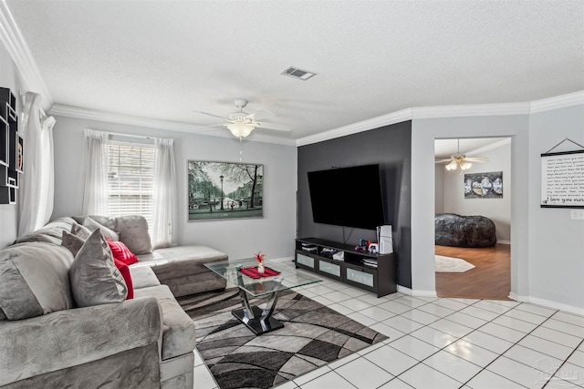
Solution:
M123 302L128 295L126 282L99 229L79 249L69 270L69 281L78 307Z

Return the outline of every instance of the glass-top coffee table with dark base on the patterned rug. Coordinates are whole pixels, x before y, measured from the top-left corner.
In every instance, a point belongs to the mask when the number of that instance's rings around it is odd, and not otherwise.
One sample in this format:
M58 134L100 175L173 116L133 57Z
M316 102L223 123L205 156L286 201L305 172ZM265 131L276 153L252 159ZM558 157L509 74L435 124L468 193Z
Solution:
M292 261L289 264L287 262L265 261L267 273L274 275L257 279L253 278L253 276L256 276L254 274L255 271L250 271L250 268L257 267L257 261L254 258L219 261L205 263L204 265L239 288L242 308L232 313L256 335L269 333L284 327L283 322L272 317L272 313L276 308L277 292L322 281L311 275L298 272ZM266 296L266 308L261 309L251 305L247 299L247 294L253 297Z

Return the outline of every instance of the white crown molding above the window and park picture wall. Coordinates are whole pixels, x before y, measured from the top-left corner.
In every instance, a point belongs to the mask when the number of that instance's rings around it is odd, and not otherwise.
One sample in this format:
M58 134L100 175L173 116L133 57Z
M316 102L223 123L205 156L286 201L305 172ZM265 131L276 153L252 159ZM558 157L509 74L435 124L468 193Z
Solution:
M124 124L141 128L156 128L169 131L186 132L189 134L208 135L212 137L234 138L229 131L222 131L216 128L205 128L195 126L190 123L183 123L171 120L160 120L154 118L140 118L130 115L116 114L112 112L98 111L81 107L71 107L56 104L48 111L49 115L62 116L67 118L80 118L85 120L101 121L107 123ZM277 143L288 146L296 146L293 139L270 137L252 132L250 140L266 143Z

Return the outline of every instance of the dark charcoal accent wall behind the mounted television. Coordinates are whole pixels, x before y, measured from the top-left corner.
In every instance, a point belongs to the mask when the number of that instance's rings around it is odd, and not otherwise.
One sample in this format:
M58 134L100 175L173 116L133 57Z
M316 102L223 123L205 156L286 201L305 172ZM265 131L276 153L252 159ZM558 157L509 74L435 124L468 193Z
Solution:
M398 284L412 288L411 120L298 148L298 238L313 237L348 244L357 244L360 239L376 241L374 230L315 223L308 191L308 171L373 163L380 165L385 220L391 224L393 250L399 266ZM334 201L336 191L349 185L367 188L366 183L339 182L330 188L330 200ZM344 207L360 207L367 212L367 204L339 204L339 212Z

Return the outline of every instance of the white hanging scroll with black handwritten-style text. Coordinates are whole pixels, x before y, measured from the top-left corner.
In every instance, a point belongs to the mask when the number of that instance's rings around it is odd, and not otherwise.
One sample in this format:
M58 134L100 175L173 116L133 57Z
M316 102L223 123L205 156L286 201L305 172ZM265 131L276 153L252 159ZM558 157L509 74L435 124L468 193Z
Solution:
M541 155L541 207L584 208L584 151Z

